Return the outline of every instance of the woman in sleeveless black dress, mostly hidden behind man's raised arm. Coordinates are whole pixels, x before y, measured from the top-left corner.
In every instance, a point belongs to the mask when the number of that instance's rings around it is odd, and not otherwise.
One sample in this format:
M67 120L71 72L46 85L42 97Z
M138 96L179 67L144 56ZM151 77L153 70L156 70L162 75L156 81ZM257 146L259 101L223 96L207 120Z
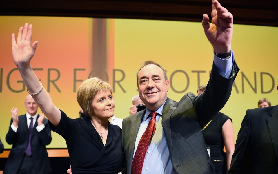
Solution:
M205 89L206 85L200 86L197 95L202 94ZM219 112L202 131L206 146L209 148L210 158L215 166L215 172L226 174L235 151L232 119ZM224 146L226 153L223 151Z

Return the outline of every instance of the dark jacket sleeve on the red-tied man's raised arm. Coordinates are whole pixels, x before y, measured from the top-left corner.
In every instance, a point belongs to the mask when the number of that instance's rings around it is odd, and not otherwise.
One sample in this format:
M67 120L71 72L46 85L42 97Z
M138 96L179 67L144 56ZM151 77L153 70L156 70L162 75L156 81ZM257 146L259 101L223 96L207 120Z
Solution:
M235 61L232 68L234 75L230 79L226 79L218 73L217 67L213 63L205 92L193 101L202 128L215 117L228 101L233 82L239 70Z

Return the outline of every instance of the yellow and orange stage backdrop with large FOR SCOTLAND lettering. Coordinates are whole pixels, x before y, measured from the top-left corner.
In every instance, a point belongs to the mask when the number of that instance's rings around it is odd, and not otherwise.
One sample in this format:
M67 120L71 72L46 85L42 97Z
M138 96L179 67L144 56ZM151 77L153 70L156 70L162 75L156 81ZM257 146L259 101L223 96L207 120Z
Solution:
M54 104L69 117L79 117L76 91L82 80L100 76L109 81L115 97L115 116L129 116L131 98L137 94L136 71L141 62L153 60L166 70L171 86L168 97L197 94L206 84L213 49L200 22L93 19L77 17L0 17L0 137L5 141L12 107L26 112L26 87L11 55L11 34L24 23L33 24L39 41L32 68L49 91ZM232 49L240 71L232 95L221 110L233 120L235 140L246 109L257 108L260 98L272 105L277 98L278 28L234 25ZM199 80L198 80L199 75ZM40 112L40 110L39 110ZM64 139L52 132L47 148L66 148Z

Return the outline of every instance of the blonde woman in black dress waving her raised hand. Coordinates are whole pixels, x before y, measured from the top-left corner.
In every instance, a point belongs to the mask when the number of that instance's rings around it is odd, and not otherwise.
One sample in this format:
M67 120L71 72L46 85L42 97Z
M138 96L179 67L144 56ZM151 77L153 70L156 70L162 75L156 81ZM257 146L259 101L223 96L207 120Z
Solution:
M30 46L32 25L19 28L17 42L12 34L12 57L21 77L53 131L65 140L73 173L116 174L122 164L121 128L111 125L114 115L111 86L99 78L84 81L78 89L77 101L90 117L70 119L54 106L30 66L38 41Z

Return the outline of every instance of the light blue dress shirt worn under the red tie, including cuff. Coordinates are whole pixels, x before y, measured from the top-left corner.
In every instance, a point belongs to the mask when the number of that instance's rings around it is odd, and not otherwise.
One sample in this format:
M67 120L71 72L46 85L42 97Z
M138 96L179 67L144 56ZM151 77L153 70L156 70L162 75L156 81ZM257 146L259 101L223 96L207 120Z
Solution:
M231 78L232 77L232 66L234 61L234 52L232 51L232 55L229 58L221 59L217 57L215 54L213 54L213 62L215 66L217 67L217 71L220 75L222 75L225 78ZM170 158L169 149L166 142L166 137L164 135L164 131L162 128L162 115L163 115L163 106L165 104L166 100L160 106L160 108L156 111L157 115L155 117L156 119L156 129L155 134L152 137L151 143L148 147L148 151L145 156L143 168L142 168L142 174L173 174L173 166ZM148 126L148 123L150 122L151 117L149 117L150 110L146 110L146 113L143 117L143 120L140 124L139 131L137 133L136 141L135 141L135 148L133 157L135 155L135 152L137 150L137 146L139 144L139 141L143 135L143 133L146 131L146 128Z

